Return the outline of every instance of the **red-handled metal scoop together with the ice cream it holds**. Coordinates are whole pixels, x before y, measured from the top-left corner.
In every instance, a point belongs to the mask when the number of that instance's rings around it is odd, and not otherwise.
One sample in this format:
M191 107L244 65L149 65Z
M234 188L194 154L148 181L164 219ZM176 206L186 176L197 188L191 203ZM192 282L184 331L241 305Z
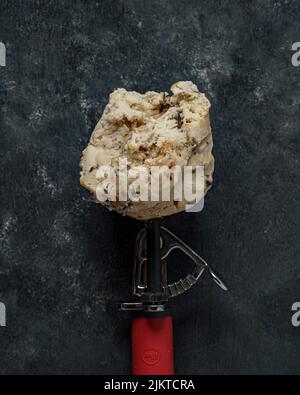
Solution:
M172 95L114 91L81 160L81 184L97 202L146 220L136 241L135 300L120 306L122 311L133 313L134 375L174 374L169 300L185 294L205 273L222 290L228 290L203 258L161 226L161 217L190 207L193 200L188 198L186 186L196 190L195 204L203 199L214 171L210 102L192 82L178 82L171 90ZM202 187L198 184L199 168ZM157 169L160 177L155 183ZM191 170L190 178L186 170ZM179 173L184 174L183 179ZM168 189L172 193L165 199ZM180 196L180 192L184 193ZM151 199L142 199L144 193ZM170 283L167 259L175 250L190 258L193 267L185 265L188 273Z

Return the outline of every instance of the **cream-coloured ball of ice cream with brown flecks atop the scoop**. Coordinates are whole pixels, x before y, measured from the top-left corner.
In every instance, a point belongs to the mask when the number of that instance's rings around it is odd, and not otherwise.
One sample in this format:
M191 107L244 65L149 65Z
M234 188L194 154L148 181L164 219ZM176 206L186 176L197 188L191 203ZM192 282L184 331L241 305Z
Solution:
M118 89L110 95L81 160L81 185L94 195L96 202L138 220L176 214L190 206L184 194L182 199L178 199L172 193L176 184L172 175L169 200L164 201L161 196L155 201L139 200L137 195L141 191L136 188L137 173L134 175L133 170L140 168L148 169L151 174L150 169L153 168L203 166L205 183L197 200L201 200L211 187L214 158L210 102L192 82L178 82L171 90L173 95L140 94L125 89ZM134 189L135 200L120 198L120 160L126 161L123 162L127 170L126 192ZM107 173L101 170L103 166L115 170L115 188L112 179L108 179ZM194 179L191 183L195 187ZM153 185L151 182L147 184L146 179L140 184L141 188L147 185L149 191L153 190ZM163 189L162 184L160 180ZM99 191L106 197L102 199ZM116 199L110 199L110 195Z

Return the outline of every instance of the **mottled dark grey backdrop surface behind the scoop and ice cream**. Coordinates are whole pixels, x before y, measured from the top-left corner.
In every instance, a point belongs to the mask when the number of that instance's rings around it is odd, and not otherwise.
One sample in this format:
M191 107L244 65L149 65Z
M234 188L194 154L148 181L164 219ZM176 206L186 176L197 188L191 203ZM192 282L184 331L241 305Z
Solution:
M115 301L141 224L91 201L79 159L110 91L178 80L212 101L216 174L203 213L165 222L231 293L173 303L176 370L300 373L299 19L298 0L0 1L0 373L130 372Z

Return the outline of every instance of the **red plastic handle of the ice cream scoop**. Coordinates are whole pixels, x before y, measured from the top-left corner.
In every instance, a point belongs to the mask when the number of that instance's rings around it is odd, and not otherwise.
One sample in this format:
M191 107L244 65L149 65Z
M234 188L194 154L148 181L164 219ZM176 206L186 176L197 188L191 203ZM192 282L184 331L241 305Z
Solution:
M133 319L132 374L174 375L172 317Z

